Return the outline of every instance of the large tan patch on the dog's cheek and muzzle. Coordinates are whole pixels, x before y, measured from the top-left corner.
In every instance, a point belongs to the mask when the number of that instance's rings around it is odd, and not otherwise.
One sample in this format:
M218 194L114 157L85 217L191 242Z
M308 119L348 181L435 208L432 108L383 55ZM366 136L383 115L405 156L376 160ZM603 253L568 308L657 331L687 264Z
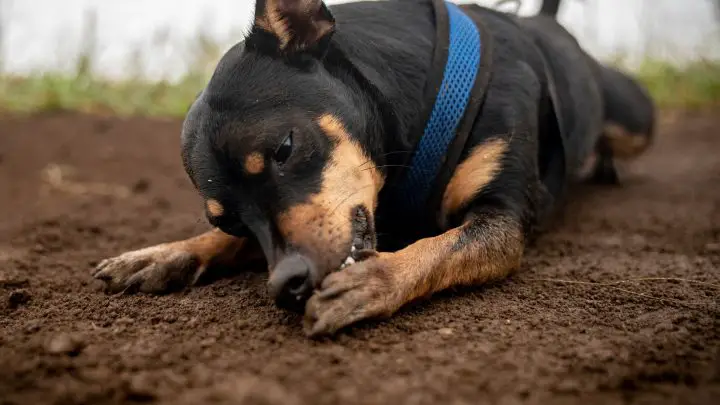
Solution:
M334 143L320 191L282 213L278 227L320 265L338 266L352 243L352 208L362 204L374 212L383 178L338 117L325 114L317 123Z

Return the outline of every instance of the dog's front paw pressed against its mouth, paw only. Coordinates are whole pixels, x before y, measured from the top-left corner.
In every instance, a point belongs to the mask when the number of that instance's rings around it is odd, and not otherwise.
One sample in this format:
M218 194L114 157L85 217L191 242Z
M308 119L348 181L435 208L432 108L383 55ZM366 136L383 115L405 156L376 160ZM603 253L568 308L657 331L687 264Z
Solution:
M388 317L397 310L400 292L386 254L330 274L305 307L309 337L333 335L339 329L369 318Z

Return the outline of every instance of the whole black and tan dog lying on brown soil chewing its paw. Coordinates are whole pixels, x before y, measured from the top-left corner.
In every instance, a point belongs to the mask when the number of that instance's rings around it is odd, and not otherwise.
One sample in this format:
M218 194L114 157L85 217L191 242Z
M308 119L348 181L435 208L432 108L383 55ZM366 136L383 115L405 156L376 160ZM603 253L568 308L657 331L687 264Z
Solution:
M182 131L215 229L107 259L95 277L158 293L263 257L272 297L319 336L517 269L590 157L616 181L613 159L649 145L653 105L554 15L462 6L482 60L440 169L421 179L427 204L408 205L398 190L414 192L403 176L443 96L449 7L258 1Z

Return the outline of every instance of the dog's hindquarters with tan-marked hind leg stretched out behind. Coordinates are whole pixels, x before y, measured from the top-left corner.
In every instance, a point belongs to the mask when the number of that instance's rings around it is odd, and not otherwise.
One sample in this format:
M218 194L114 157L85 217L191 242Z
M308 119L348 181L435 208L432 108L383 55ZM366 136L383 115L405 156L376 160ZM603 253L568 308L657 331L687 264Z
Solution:
M518 23L545 53L550 74L558 83L561 110L568 110L561 115L572 128L566 131L566 152L575 163L572 170L581 168L589 157L599 157L596 179L615 183L613 160L637 157L651 144L655 106L635 79L584 51L557 22L559 3L544 1L539 15L518 18ZM596 108L598 96L600 109Z

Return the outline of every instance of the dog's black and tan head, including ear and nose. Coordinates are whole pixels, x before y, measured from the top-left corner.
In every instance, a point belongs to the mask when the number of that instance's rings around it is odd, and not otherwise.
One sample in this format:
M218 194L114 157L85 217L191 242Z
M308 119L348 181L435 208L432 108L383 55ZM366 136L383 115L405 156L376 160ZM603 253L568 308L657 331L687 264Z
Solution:
M257 239L286 307L375 246L383 176L367 106L325 67L334 30L320 0L258 1L252 32L223 56L183 127L183 162L210 222Z

